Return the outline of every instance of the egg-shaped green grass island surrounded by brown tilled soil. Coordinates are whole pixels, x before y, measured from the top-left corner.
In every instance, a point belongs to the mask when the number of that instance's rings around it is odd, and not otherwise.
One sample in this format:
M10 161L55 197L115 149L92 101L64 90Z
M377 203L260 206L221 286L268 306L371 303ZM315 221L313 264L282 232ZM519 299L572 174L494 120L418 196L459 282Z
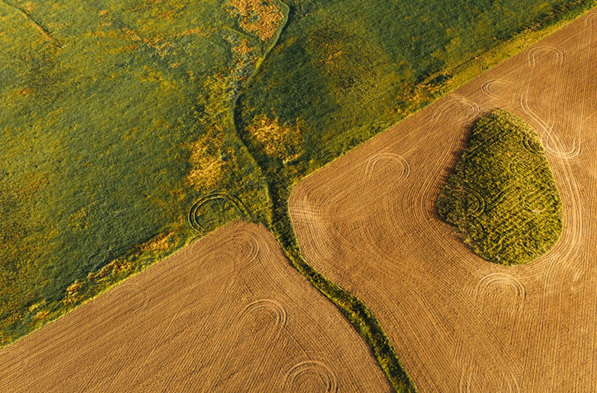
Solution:
M562 202L537 131L503 109L476 122L437 207L476 254L502 265L541 256L562 232Z

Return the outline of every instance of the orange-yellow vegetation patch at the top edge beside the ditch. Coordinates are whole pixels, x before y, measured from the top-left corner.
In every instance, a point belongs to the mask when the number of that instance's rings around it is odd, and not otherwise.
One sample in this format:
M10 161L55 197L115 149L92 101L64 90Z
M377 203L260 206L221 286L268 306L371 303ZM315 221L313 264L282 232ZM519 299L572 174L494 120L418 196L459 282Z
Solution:
M246 32L253 33L263 41L273 38L282 24L284 13L269 0L230 0L236 13L241 16L239 24Z

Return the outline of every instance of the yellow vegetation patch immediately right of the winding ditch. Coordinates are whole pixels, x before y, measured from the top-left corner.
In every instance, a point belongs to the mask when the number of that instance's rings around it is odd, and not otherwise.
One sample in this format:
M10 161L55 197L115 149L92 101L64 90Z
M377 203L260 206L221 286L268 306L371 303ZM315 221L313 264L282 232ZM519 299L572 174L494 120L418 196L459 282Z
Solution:
M303 137L298 122L294 127L290 127L280 125L278 118L270 119L266 115L257 115L247 130L269 156L289 162L303 153Z

